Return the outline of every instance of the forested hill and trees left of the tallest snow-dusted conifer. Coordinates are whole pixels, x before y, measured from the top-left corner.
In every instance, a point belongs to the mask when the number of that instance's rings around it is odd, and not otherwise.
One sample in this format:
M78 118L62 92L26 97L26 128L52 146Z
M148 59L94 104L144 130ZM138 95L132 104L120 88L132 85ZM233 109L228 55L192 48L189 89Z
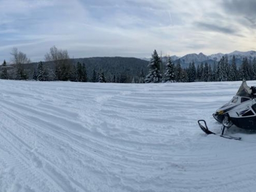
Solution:
M32 63L27 55L13 48L11 65L0 65L0 78L38 81L143 82L147 61L129 57L71 59L67 50L50 48L45 61Z

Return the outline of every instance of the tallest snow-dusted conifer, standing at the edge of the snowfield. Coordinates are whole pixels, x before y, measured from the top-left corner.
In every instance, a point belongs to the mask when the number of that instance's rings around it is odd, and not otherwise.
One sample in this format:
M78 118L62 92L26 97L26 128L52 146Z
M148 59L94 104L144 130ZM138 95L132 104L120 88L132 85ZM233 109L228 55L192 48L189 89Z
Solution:
M146 76L146 83L158 83L162 81L162 74L160 72L161 59L155 50L148 64L148 74Z

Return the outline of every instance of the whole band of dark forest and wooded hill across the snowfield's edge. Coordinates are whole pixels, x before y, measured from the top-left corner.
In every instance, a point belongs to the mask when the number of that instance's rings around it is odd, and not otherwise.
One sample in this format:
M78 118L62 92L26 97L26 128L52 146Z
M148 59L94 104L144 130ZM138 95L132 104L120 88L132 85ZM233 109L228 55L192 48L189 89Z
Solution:
M55 46L45 55L44 62L30 62L17 48L11 55L12 64L7 65L4 60L0 66L1 79L116 83L256 80L256 59L246 57L239 67L235 56L232 60L223 56L214 63L195 65L193 61L182 68L180 59L160 57L156 50L150 61L132 57L71 59L66 50Z

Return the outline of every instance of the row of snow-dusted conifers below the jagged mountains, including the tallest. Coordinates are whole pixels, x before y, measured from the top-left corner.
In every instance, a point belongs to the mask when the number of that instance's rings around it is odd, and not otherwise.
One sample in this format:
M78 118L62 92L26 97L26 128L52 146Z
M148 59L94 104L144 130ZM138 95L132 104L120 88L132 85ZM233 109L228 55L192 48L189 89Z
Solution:
M236 57L233 55L231 64L228 57L223 56L219 62L214 65L208 65L207 62L195 66L194 61L189 63L189 67L183 69L181 61L178 59L177 64L169 57L165 63L165 72L162 75L161 66L163 62L157 51L152 54L148 64L148 74L145 82L195 82L195 81L237 81L237 80L256 80L256 59L248 60L243 58L242 65L238 68Z

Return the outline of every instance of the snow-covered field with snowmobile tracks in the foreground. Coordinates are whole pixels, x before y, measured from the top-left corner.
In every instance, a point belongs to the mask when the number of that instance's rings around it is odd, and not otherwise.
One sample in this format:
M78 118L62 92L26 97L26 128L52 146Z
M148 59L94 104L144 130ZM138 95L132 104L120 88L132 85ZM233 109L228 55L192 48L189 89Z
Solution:
M255 191L256 134L197 124L240 84L0 80L0 191Z

